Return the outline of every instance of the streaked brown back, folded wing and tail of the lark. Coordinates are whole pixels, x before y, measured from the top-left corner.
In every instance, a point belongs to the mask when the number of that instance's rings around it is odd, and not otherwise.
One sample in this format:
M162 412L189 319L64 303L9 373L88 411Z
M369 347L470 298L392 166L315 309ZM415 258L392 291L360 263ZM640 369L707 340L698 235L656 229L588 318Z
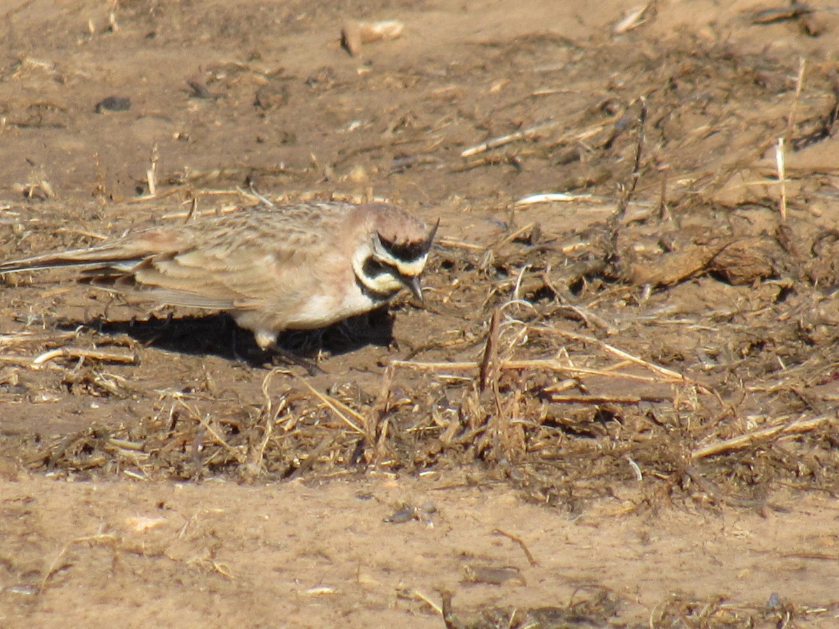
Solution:
M0 263L0 273L81 267L91 283L164 304L204 309L290 308L347 263L340 202L243 208L182 226L155 227L96 247ZM331 242L325 244L324 239ZM348 266L348 265L347 265Z

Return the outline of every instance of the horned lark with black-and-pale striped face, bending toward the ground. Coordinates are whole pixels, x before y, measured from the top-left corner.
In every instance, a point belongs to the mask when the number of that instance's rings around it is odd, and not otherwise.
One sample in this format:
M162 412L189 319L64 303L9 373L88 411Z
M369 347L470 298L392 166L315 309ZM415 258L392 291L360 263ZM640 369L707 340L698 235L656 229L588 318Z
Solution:
M0 263L0 273L79 267L80 279L118 292L227 311L265 349L282 330L331 325L400 289L422 299L436 229L384 203L257 205Z

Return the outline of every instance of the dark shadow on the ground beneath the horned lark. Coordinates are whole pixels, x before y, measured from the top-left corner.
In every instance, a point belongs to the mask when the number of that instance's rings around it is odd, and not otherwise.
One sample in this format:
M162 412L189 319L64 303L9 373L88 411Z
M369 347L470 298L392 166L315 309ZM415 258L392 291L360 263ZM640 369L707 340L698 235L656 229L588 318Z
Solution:
M388 347L393 343L393 314L386 307L359 314L318 330L285 330L277 350L263 350L253 334L242 330L228 314L185 315L164 319L89 321L60 320L60 330L85 326L103 335L128 335L143 346L193 356L220 356L263 366L278 358L297 356L304 363L323 354L340 356L364 346Z

